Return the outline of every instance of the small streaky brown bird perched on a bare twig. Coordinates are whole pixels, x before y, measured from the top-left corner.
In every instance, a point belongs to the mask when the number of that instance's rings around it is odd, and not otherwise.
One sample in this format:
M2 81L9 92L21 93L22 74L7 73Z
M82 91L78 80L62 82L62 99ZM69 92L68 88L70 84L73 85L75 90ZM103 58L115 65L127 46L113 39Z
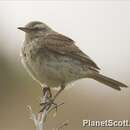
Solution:
M47 24L31 21L18 29L25 32L21 48L25 68L40 85L49 89L60 87L57 95L69 83L82 78L94 79L115 90L128 87L101 74L97 64L79 49L74 40Z

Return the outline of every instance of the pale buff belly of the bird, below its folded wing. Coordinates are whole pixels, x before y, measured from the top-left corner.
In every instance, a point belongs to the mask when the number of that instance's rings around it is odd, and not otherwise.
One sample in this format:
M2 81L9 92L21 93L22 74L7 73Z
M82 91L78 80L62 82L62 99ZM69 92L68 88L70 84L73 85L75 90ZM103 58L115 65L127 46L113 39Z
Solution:
M32 57L32 58L31 58ZM43 50L33 58L23 57L24 66L34 80L49 87L59 87L87 77L87 67L78 60Z

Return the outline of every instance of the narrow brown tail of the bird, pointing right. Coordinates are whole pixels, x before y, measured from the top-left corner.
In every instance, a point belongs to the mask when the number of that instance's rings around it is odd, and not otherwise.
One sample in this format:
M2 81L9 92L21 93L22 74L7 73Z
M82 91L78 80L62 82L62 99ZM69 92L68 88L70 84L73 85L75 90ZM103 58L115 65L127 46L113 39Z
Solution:
M96 81L99 81L100 83L103 83L109 87L112 87L116 90L121 90L122 87L125 87L125 88L128 87L127 85L125 85L119 81L116 81L112 78L106 77L99 73L95 73L91 78L93 78Z

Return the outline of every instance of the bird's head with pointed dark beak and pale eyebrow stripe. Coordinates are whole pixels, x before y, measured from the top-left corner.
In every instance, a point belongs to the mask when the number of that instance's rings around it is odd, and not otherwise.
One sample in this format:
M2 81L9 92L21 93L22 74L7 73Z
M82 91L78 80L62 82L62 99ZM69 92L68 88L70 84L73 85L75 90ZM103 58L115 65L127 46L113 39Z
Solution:
M43 36L52 30L46 24L39 21L30 22L25 27L18 27L18 29L24 31L26 36L31 36L32 38Z

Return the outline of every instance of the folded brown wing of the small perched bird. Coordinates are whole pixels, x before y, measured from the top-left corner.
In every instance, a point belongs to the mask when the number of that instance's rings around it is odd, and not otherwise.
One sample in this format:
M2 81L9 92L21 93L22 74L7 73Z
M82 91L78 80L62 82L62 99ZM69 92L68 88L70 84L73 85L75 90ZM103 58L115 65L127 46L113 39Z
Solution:
M83 53L75 42L62 34L48 34L44 37L43 47L55 53L66 55L84 62L89 67L99 69L99 67Z

